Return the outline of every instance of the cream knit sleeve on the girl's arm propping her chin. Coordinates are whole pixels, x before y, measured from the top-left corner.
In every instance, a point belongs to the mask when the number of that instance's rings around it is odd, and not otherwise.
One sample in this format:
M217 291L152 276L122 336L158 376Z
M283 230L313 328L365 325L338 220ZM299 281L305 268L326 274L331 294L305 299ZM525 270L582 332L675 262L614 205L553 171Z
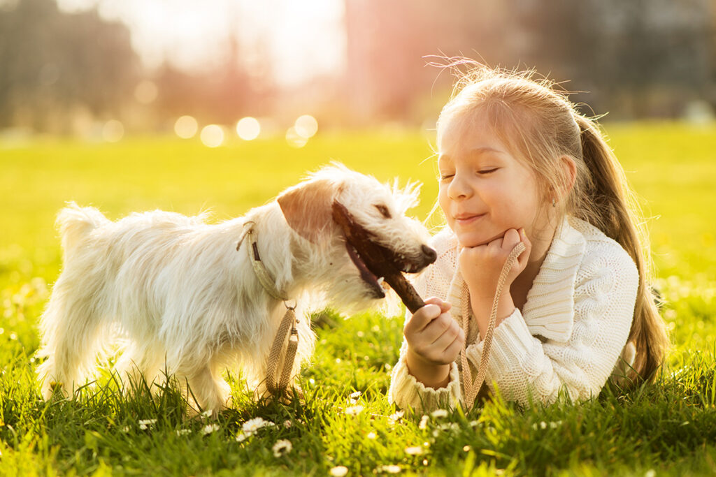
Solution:
M531 334L520 310L495 328L485 380L507 400L552 403L561 390L574 401L599 394L627 343L639 285L627 252L597 250L574 283L574 326L566 340ZM480 363L483 343L468 347Z

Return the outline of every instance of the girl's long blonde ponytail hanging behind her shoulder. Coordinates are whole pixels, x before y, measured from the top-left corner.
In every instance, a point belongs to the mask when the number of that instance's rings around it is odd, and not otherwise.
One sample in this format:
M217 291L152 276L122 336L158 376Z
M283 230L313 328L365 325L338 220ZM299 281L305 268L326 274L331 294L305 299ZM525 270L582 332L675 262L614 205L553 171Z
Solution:
M648 282L652 266L647 235L637 215L639 205L627 185L624 169L606 144L596 123L581 114L575 113L574 116L581 132L582 156L591 173L587 193L577 199L589 203L576 205L576 211L586 212L586 217L581 218L619 242L632 256L639 270L639 290L632 330L629 332L629 342L636 348L636 358L633 370L627 373L624 383L651 381L662 365L670 343Z

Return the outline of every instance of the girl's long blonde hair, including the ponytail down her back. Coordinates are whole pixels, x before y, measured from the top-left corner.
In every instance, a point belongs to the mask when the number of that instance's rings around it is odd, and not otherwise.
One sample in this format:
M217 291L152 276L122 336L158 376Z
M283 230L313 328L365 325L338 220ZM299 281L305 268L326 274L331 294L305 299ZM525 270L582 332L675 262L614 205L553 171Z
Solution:
M468 64L468 72L462 72ZM625 383L653 380L669 348L664 320L659 316L649 275L652 272L647 233L624 169L606 144L599 125L584 117L553 82L535 79L533 72L490 69L461 60L450 64L458 74L453 97L437 122L437 142L445 124L470 121L485 114L495 134L511 152L524 159L543 187L543 207L552 207L555 191L569 190L571 178L563 157L576 164L569 194L561 194L560 215L591 223L619 242L639 270L639 290L629 341L637 350Z

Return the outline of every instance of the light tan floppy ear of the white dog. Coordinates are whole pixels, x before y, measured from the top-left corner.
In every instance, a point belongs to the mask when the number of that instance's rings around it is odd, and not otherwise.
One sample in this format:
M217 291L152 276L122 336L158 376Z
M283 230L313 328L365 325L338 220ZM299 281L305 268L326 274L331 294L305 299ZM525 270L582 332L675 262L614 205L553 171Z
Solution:
M315 179L285 190L276 199L286 222L297 234L317 243L333 226L333 200L340 192L335 182Z

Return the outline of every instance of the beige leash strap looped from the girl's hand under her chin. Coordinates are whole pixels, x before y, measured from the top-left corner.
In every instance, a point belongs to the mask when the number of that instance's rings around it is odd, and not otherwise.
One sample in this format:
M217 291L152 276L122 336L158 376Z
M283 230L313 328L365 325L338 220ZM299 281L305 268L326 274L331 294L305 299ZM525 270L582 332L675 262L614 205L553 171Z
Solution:
M502 296L502 289L505 286L505 280L507 280L507 274L512 269L513 265L517 260L517 257L524 252L526 249L525 244L522 242L515 245L507 257L505 265L500 270L500 277L497 281L497 289L495 290L495 297L493 299L492 310L490 311L490 321L488 323L488 330L485 333L483 340L483 354L480 357L480 368L478 368L478 375L473 381L473 373L470 370L470 363L468 363L467 347L468 343L463 345L463 350L460 351L460 363L463 367L463 390L465 393L465 405L468 409L473 407L475 398L478 395L478 391L482 388L483 382L485 381L485 373L488 370L488 359L490 358L490 347L492 346L493 332L495 331L495 320L497 320L497 307L500 303L500 297ZM468 320L470 317L470 292L468 291L467 283L463 282L463 297L467 297L467 300L463 300L463 330L465 330L465 336L468 335Z

